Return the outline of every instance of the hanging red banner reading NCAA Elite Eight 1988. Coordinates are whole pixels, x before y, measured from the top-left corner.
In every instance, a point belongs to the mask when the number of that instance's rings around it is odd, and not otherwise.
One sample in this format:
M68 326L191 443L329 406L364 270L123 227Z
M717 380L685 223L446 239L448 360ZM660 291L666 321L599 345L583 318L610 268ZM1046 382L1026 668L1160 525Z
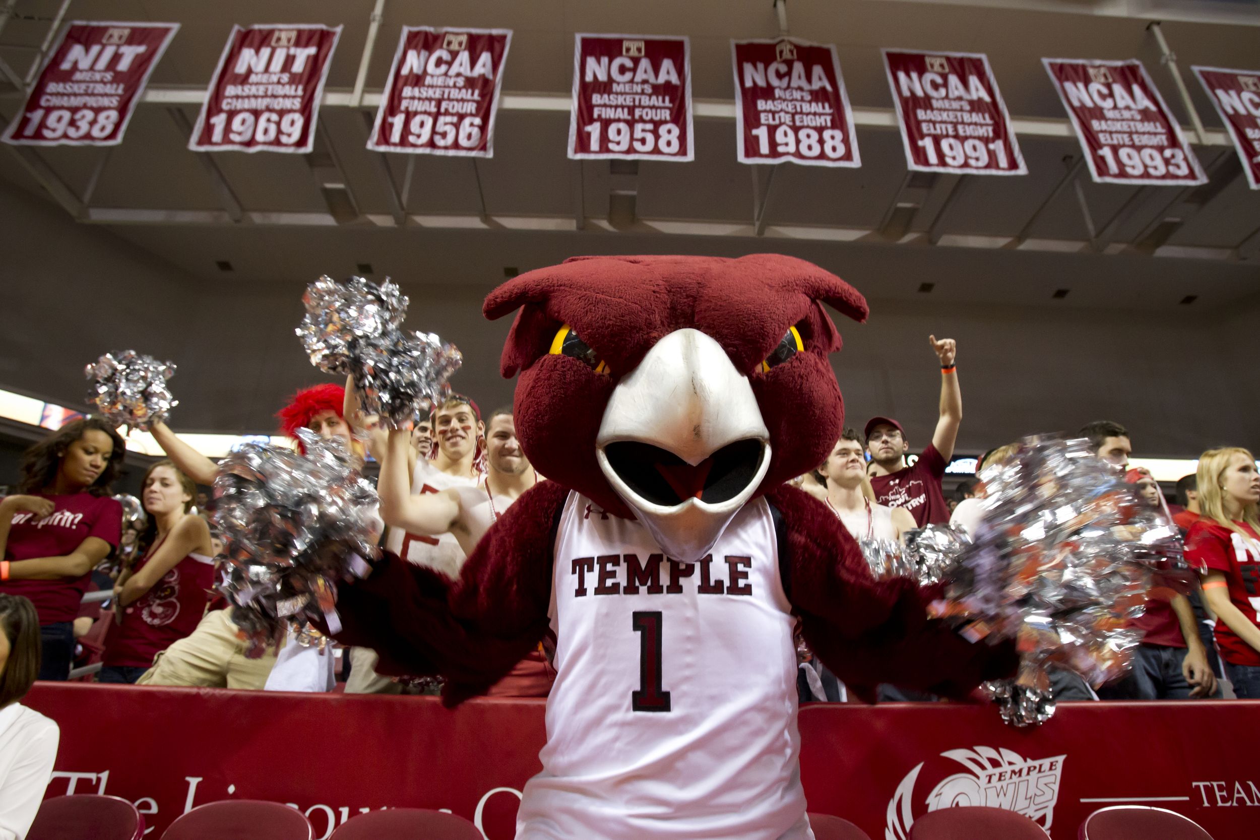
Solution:
M741 164L862 165L835 47L732 40L731 58Z

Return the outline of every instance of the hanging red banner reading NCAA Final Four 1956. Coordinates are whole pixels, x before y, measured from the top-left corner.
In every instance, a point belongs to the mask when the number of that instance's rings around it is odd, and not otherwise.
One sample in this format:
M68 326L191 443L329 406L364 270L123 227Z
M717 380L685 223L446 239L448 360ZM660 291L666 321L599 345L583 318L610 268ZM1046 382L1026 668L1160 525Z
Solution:
M494 156L510 29L403 26L368 149Z

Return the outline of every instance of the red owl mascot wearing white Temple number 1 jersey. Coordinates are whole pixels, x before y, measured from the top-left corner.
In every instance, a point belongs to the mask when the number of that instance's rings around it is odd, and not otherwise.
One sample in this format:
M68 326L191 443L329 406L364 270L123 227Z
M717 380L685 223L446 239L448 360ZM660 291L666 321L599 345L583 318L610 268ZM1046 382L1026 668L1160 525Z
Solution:
M966 695L1009 647L930 620L874 581L816 467L844 407L823 307L866 300L772 254L587 257L504 283L503 375L549 476L499 518L460 579L386 555L341 587L338 640L378 670L483 693L544 637L558 676L518 840L801 840L794 628L859 696L879 683Z

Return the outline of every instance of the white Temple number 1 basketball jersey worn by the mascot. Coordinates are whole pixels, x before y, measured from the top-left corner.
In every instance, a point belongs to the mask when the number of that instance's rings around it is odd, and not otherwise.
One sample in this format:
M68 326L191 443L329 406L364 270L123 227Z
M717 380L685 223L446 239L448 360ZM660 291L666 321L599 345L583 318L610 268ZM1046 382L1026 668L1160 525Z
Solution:
M795 618L764 499L709 557L663 557L571 492L556 538L543 771L517 840L805 840Z

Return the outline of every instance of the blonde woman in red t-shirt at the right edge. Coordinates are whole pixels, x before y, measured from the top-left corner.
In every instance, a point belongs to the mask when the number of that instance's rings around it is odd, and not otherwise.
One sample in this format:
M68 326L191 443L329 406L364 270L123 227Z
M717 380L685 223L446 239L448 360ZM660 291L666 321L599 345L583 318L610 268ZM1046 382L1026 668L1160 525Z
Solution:
M1186 534L1186 557L1203 574L1216 612L1216 646L1240 698L1260 700L1260 472L1246 450L1208 450L1198 460L1203 518Z

